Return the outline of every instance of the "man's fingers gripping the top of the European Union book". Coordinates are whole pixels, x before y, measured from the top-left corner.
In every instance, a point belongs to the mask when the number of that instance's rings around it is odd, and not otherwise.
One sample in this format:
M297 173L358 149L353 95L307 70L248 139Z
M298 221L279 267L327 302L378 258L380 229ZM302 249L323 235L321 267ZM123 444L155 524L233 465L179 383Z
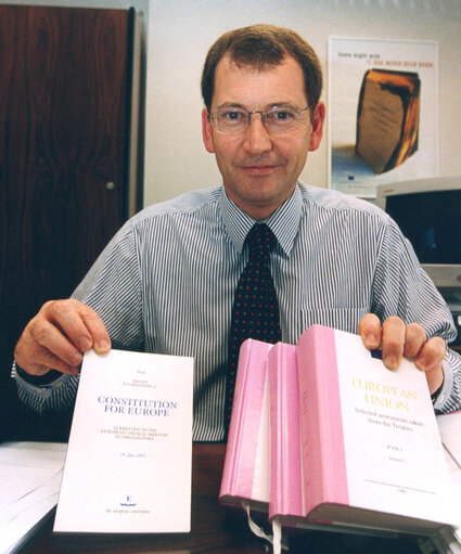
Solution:
M425 331L418 323L406 325L400 318L389 318L381 327L381 322L373 313L367 313L360 320L359 335L370 350L383 350L383 361L389 370L396 370L402 356L413 358L417 368L425 372L431 394L444 383L441 362L446 346L441 337L427 340Z

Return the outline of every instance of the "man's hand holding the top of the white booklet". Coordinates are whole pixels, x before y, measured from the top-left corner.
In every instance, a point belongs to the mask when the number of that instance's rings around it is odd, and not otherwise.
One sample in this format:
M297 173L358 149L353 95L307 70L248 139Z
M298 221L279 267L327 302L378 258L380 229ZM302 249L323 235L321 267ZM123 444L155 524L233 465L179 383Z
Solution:
M108 352L111 339L98 313L77 300L51 300L29 321L16 348L17 365L31 375L50 370L74 375L82 353L93 348Z

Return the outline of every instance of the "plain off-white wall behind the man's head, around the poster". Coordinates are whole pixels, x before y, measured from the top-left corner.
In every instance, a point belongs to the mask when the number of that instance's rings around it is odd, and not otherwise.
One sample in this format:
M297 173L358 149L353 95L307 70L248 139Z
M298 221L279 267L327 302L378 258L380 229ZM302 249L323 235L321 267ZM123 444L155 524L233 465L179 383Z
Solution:
M144 204L220 182L202 144L200 79L210 44L252 23L292 27L325 72L329 36L439 42L439 175L461 175L460 0L151 0ZM326 99L325 87L323 98ZM328 185L328 137L302 178Z

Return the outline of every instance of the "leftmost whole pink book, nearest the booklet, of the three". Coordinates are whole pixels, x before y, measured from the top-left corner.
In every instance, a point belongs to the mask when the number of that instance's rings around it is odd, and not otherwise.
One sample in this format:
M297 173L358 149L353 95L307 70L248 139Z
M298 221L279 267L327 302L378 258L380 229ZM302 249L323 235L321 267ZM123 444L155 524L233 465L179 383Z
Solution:
M269 398L267 357L272 345L246 339L239 368L219 499L267 512L269 476Z

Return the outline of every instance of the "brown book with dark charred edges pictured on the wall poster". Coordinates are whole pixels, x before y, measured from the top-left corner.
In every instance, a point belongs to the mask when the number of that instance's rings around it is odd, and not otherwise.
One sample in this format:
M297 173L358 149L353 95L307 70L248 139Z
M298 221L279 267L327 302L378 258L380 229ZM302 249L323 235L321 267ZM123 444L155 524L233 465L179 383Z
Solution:
M400 166L418 150L418 73L366 72L357 111L356 153L376 175Z

